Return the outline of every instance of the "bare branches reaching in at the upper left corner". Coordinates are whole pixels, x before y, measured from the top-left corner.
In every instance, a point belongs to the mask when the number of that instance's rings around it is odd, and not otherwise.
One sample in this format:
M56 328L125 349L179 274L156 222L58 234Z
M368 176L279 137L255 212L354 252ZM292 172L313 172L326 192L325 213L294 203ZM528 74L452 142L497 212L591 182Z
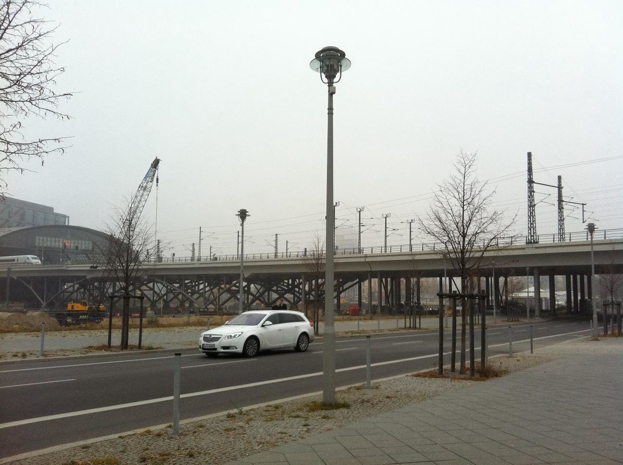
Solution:
M0 195L7 188L6 175L29 171L25 161L65 151L65 138L29 139L22 134L22 121L31 116L69 116L58 107L70 93L56 93L56 79L64 68L54 63L62 44L50 44L57 27L34 16L44 7L34 0L3 0L0 3Z

